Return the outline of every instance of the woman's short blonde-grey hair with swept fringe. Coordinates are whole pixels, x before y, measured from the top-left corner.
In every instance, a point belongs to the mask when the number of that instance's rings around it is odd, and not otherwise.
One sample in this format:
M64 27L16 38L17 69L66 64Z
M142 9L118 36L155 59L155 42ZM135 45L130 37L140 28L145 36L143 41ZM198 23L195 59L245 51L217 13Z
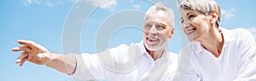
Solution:
M178 0L178 7L185 8L189 10L199 11L204 14L210 13L212 10L218 11L218 19L216 21L217 27L221 22L221 8L218 3L214 0Z

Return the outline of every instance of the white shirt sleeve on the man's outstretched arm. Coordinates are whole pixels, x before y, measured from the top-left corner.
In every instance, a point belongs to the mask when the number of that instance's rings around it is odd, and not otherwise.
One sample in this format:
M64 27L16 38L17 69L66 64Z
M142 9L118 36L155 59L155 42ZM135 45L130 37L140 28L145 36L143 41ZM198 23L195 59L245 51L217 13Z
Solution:
M129 46L120 45L96 54L75 55L77 67L70 76L79 80L115 78L109 73L106 74L106 71L122 70L123 67L119 67L119 65L129 60L127 57L128 48Z

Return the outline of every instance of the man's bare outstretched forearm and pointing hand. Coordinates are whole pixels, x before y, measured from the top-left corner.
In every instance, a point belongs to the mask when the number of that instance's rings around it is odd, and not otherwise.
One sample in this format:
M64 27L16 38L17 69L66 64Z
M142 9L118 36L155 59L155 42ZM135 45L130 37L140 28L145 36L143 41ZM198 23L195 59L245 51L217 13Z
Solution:
M20 63L20 66L24 62L29 61L38 65L55 68L61 73L74 73L76 58L73 55L51 53L44 46L40 46L33 41L19 40L18 43L21 46L13 48L12 51L22 51L15 61L16 63Z

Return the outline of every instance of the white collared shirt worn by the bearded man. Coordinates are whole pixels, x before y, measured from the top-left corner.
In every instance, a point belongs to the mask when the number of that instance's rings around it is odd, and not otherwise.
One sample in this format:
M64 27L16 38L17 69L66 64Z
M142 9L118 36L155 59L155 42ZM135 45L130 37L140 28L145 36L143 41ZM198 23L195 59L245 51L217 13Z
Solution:
M120 45L97 54L75 55L77 67L72 78L108 79L108 81L170 81L176 72L177 54L165 51L154 59L143 41Z

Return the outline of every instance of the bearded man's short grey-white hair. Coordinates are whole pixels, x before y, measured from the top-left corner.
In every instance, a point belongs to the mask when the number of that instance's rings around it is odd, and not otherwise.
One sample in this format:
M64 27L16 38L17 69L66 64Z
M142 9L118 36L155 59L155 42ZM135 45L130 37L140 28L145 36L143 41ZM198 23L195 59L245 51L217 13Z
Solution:
M171 27L174 27L174 23L175 23L175 15L172 11L172 8L167 8L163 3L156 3L154 6L150 7L146 13L146 16L148 13L151 12L157 12L157 11L163 11L166 13L167 17L171 20ZM145 17L146 18L146 17Z

